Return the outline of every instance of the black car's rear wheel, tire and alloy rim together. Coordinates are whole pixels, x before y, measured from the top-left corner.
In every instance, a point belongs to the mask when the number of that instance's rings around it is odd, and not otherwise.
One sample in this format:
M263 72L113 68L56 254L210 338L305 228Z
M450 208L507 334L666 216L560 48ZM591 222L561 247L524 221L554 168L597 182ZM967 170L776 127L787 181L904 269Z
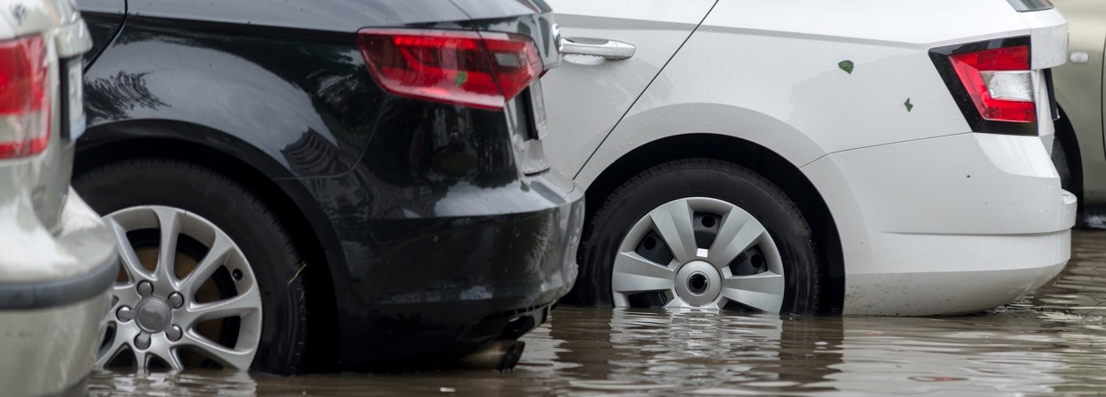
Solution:
M129 351L134 354L132 363L139 368L165 365L177 369L215 363L273 374L301 372L307 295L300 272L306 264L262 197L211 168L165 158L101 165L77 174L73 186L111 221L116 236L127 240L118 243L121 278L115 286L115 307L107 315L109 332L98 365L109 364L121 352ZM166 275L168 268L158 265L165 258L142 261L150 257L143 257L149 245L153 255L161 251L161 240L167 236L163 229L180 231L173 275ZM143 263L128 267L127 255ZM205 261L215 264L205 267ZM191 270L187 269L181 274L184 263L204 270L195 273L210 275L188 273ZM174 297L169 291L182 296ZM205 293L210 302L200 302ZM210 309L221 303L233 303L238 309ZM169 309L168 321L159 317L166 315L164 309L157 309L159 305L175 307ZM215 325L206 318L227 314L230 316L220 317ZM175 323L178 321L180 324ZM158 332L163 324L166 331Z

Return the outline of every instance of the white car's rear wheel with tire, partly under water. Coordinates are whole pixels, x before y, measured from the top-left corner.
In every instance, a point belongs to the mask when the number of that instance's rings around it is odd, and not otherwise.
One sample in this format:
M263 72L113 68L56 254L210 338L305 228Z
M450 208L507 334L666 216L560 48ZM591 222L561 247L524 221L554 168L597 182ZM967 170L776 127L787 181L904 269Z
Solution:
M581 250L583 304L818 309L820 255L803 215L729 163L677 160L634 176L596 210Z

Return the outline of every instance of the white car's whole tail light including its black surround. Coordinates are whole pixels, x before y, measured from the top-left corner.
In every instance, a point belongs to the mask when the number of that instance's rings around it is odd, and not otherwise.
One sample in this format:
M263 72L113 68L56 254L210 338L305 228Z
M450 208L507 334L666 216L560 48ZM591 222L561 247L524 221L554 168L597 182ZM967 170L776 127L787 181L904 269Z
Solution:
M977 133L1036 135L1036 91L1027 36L929 51L949 92Z

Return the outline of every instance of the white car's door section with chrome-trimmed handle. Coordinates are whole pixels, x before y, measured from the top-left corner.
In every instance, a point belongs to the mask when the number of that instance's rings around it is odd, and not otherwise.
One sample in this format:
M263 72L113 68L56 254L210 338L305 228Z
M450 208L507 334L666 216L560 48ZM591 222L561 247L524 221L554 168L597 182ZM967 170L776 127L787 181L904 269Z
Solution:
M561 25L564 62L542 77L545 154L575 176L716 0L547 2Z

